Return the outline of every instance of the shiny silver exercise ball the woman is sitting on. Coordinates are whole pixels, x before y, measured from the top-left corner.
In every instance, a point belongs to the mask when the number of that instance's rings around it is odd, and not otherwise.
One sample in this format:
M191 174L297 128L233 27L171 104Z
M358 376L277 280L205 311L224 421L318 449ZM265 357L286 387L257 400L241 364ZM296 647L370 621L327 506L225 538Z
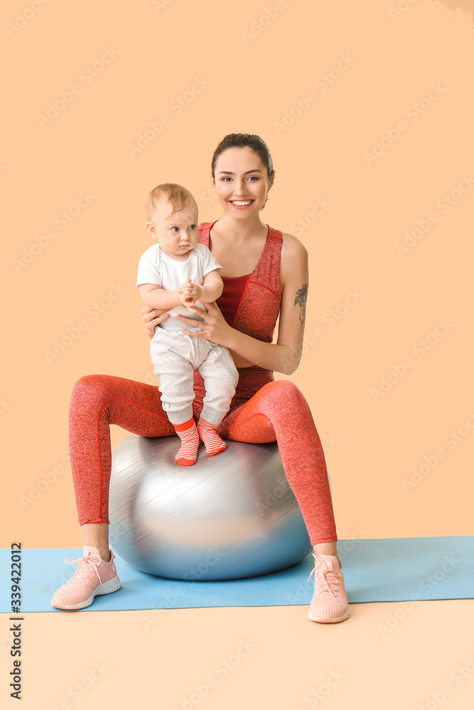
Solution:
M239 579L300 562L312 547L276 444L227 440L178 466L178 437L129 435L112 452L112 550L169 579Z

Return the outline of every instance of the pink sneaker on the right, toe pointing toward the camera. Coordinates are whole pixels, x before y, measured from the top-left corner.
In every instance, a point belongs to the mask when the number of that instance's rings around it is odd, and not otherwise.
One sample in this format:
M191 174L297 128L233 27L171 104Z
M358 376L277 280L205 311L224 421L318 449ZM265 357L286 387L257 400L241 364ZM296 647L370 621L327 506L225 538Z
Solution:
M349 616L348 597L345 594L344 577L335 555L314 555L314 596L311 599L308 618L321 623L344 621ZM308 581L311 579L311 574Z

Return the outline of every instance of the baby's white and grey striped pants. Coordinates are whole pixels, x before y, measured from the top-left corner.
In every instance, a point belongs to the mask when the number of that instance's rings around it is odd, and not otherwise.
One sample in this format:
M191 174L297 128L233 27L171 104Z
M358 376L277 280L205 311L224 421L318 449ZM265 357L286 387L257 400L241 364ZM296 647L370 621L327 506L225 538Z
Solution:
M157 327L150 354L160 381L161 405L171 424L193 417L195 369L203 376L206 391L201 417L216 426L222 422L239 379L227 348Z

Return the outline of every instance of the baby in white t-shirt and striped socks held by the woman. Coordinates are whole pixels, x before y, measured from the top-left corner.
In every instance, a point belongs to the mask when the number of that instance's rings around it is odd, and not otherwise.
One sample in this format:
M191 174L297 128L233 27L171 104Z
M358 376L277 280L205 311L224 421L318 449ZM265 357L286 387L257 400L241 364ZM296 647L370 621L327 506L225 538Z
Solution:
M163 410L181 438L176 463L191 466L198 456L199 439L208 456L225 449L217 427L229 410L239 378L227 348L181 332L183 327L200 330L198 322L203 319L187 307L205 310L201 301L212 302L221 295L221 266L207 246L198 244L198 205L185 187L170 182L157 185L149 193L146 210L146 229L158 244L141 256L136 285L146 305L169 312L151 339L151 361L160 381ZM196 326L178 320L178 313L196 320ZM198 427L192 408L195 369L203 376L206 390Z

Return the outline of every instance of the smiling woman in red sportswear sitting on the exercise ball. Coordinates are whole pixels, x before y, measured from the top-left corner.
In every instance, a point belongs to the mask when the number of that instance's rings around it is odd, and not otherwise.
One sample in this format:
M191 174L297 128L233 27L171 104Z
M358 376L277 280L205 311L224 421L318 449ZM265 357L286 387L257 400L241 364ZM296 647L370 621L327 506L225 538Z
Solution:
M199 241L222 265L224 291L203 318L200 332L183 332L227 347L239 371L237 391L218 433L234 441L278 443L286 478L308 529L315 567L311 621L332 623L349 616L328 474L321 440L308 403L289 380L301 360L308 291L308 255L290 234L260 219L274 183L274 169L259 136L231 133L212 156L212 185L224 217L200 224ZM166 313L142 305L150 337ZM276 344L272 338L279 317ZM194 321L195 322L195 321ZM205 393L195 372L193 413ZM53 596L58 608L84 608L97 594L119 589L109 550L109 425L147 437L172 436L157 387L113 376L87 376L75 384L70 405L70 458L84 554L72 579ZM311 575L310 575L311 577Z

